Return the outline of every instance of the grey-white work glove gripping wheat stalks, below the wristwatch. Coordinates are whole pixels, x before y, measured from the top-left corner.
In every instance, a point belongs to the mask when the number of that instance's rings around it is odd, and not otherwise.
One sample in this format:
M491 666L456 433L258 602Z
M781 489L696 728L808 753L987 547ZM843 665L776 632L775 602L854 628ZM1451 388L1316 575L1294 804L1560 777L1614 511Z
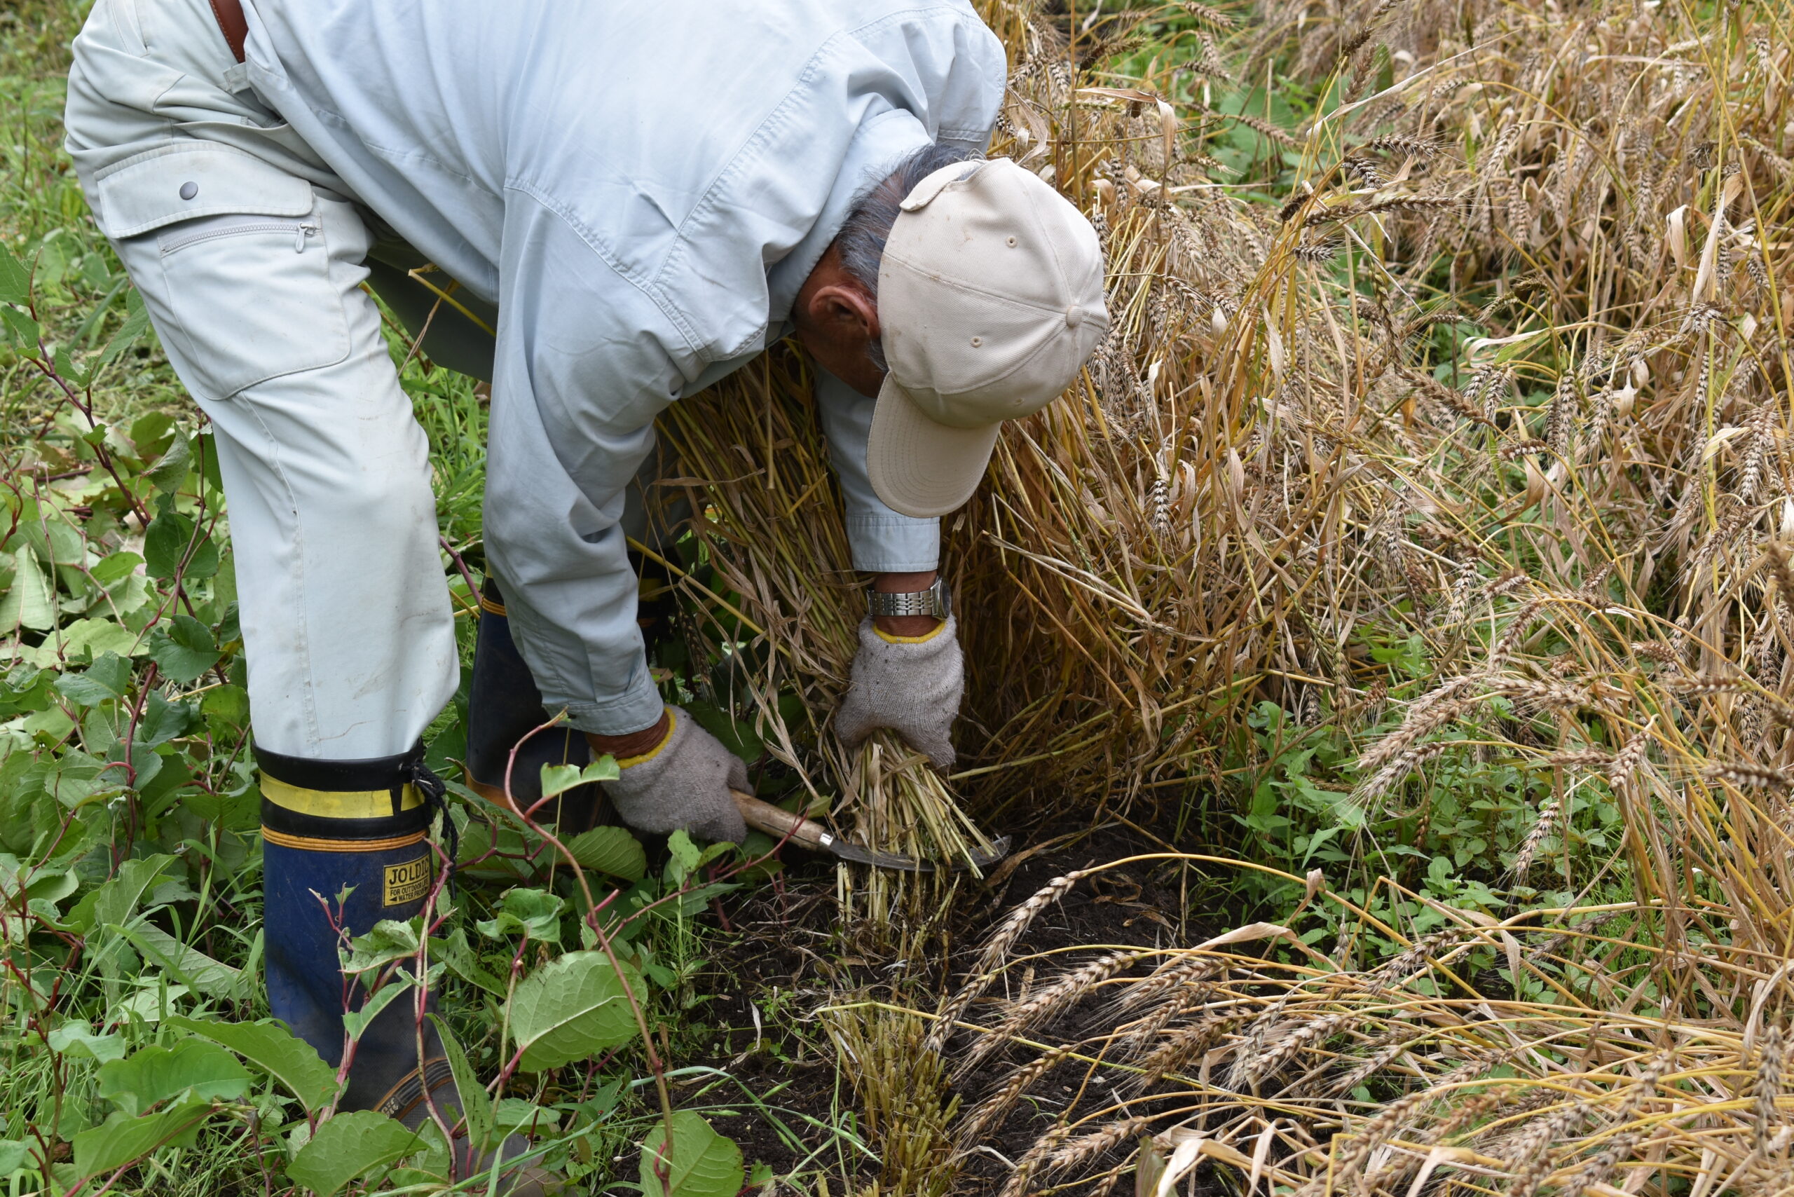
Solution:
M854 678L834 716L834 734L849 748L888 727L935 768L953 768L953 720L965 695L965 655L953 616L926 637L884 639L867 616L859 625Z

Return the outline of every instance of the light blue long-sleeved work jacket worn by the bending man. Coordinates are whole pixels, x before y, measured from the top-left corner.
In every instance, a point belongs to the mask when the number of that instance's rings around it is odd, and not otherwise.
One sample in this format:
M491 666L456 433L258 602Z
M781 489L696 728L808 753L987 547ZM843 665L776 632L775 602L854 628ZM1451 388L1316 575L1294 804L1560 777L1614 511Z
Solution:
M619 519L653 420L788 328L854 196L983 149L965 0L249 0L248 83L353 197L499 305L486 549L549 709L658 718ZM859 569L935 520L865 479L872 402L818 388ZM818 580L820 581L820 580Z

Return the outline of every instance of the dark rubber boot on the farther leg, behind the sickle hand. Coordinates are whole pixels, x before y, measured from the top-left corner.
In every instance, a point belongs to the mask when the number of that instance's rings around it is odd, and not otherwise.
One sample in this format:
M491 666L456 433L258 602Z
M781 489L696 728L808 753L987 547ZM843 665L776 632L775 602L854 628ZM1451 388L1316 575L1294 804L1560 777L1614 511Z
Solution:
M529 809L542 797L544 765L592 763L592 748L585 736L570 727L556 725L535 732L549 721L542 707L542 691L524 664L511 639L511 621L504 614L499 583L490 576L479 592L479 633L474 641L474 680L468 684L466 703L466 772L468 786L484 799L504 806L504 781L509 770L511 799L520 809ZM524 739L529 736L527 739ZM522 741L518 745L518 741ZM517 748L517 761L511 761ZM545 802L531 818L544 826L558 826L563 834L590 831L601 824L619 822L603 786L588 782L574 786Z

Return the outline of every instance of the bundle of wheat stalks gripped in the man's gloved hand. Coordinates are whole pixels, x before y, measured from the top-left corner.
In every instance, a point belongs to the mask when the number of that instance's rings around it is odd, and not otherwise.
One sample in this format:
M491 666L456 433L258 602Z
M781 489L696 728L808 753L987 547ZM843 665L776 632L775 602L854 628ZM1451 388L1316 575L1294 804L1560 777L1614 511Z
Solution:
M755 698L755 723L773 756L797 770L813 795L841 799L832 817L868 847L951 865L988 851L953 790L926 757L890 732L859 750L825 734L847 686L865 598L852 571L841 501L823 450L804 359L775 350L662 418L676 465L664 497L689 499L691 528L716 581L682 576L700 637L712 653L757 659L741 678ZM736 639L746 633L746 644ZM757 653L753 641L764 642ZM788 723L780 691L802 698ZM893 915L931 915L949 874L841 872L843 906L874 926Z

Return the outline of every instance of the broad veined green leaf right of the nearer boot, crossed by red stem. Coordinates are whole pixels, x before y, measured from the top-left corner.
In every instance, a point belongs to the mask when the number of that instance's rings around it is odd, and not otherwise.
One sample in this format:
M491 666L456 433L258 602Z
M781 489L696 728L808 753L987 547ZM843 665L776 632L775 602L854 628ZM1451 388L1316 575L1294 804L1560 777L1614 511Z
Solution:
M635 1014L624 991L642 992L633 969L617 969L599 951L574 951L551 960L517 987L511 1034L524 1048L520 1068L542 1071L583 1061L635 1037Z

